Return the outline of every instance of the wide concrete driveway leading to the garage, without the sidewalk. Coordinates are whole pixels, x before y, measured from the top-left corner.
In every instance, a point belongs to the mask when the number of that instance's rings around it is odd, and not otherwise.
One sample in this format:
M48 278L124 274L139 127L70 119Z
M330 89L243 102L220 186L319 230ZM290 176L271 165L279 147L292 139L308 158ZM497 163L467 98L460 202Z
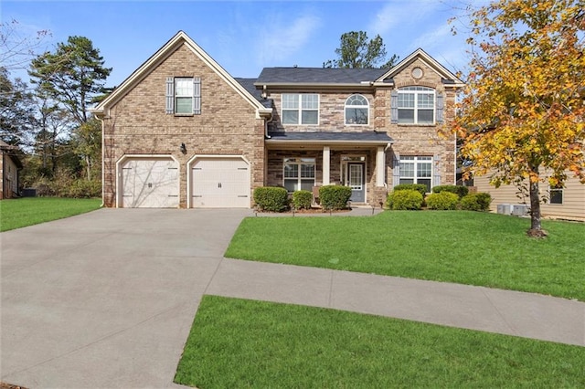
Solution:
M101 209L3 233L0 381L176 387L199 300L247 215Z

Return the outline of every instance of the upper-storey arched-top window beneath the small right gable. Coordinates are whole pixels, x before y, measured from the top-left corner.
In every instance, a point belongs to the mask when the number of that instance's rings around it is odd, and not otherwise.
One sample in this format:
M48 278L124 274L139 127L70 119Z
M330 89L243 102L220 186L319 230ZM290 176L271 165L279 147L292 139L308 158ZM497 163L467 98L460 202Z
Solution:
M435 90L426 87L406 87L398 89L396 96L396 115L399 124L434 124ZM437 101L439 105L439 101ZM442 105L442 97L441 97ZM442 114L442 106L441 106ZM394 118L393 118L394 119Z

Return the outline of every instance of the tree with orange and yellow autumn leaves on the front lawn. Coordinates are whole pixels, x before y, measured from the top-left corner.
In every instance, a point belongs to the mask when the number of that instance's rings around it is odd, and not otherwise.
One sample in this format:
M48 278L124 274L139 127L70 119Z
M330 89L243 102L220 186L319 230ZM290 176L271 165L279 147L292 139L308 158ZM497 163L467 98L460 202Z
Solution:
M468 172L529 196L528 235L545 237L540 186L585 184L585 0L496 0L468 8L470 73L451 128Z

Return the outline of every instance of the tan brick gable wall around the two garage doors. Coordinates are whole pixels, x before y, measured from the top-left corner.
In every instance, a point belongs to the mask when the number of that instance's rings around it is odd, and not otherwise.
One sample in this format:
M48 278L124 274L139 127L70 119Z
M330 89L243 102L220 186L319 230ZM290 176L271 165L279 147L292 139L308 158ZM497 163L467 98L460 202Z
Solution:
M201 114L165 113L167 77L201 78ZM195 154L243 155L251 190L264 181L264 124L255 109L185 45L154 68L104 120L104 204L115 206L116 162L124 154L170 154L179 161L179 205L186 206L186 162ZM180 152L181 143L186 154Z

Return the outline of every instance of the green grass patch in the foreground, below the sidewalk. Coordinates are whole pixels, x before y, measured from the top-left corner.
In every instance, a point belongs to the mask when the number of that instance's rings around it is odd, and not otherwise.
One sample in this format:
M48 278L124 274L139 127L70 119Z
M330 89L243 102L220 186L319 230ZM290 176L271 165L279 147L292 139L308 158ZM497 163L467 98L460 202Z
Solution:
M175 381L212 388L585 387L585 348L204 296Z

